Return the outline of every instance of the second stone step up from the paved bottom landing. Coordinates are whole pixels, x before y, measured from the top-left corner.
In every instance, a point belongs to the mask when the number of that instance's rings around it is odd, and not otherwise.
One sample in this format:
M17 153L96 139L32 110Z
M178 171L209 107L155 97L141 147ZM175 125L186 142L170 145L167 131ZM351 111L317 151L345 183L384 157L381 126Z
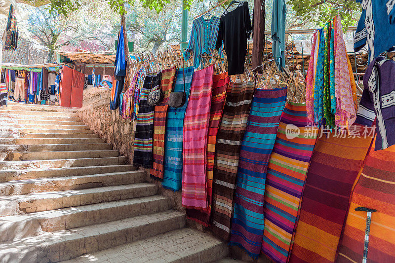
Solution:
M0 242L35 236L42 232L67 230L158 213L170 208L169 197L153 195L27 215L5 216L0 218Z

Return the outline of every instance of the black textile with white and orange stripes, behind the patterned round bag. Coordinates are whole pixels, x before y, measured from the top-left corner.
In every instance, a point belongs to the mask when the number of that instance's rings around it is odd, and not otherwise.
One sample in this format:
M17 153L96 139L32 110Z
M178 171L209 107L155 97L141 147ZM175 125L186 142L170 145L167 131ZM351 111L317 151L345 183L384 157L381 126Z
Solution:
M141 89L139 112L134 137L133 163L144 168L152 168L152 147L154 135L154 106L147 103L148 93L158 87L160 73L148 74Z

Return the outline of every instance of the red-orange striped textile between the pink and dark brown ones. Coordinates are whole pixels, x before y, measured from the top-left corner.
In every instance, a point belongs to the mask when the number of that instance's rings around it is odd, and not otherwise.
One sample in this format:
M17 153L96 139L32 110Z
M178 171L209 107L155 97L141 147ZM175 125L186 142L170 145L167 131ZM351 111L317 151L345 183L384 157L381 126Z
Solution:
M204 226L208 226L211 214L215 142L217 139L219 124L221 122L222 111L224 110L226 89L228 87L229 80L230 78L227 72L214 75L213 77L210 120L208 122L207 133L206 193L208 207L206 210L197 210L193 208L187 209L187 217Z

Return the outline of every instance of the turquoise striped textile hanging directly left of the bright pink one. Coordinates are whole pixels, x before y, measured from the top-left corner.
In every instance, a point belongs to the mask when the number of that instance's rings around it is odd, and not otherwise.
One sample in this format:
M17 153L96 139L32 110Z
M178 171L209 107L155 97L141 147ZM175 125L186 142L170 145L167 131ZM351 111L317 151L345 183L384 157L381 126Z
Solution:
M188 105L194 68L177 70L177 80L173 91L184 91L184 75L186 101L182 107L177 109L169 106L165 131L162 187L174 191L181 188L184 115Z

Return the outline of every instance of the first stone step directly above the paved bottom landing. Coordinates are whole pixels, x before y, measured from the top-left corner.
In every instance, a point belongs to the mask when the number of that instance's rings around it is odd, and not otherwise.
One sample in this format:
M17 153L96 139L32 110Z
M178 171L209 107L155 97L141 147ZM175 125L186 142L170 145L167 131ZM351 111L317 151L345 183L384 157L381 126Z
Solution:
M3 262L65 261L179 229L185 223L185 213L164 211L2 243L0 255Z

